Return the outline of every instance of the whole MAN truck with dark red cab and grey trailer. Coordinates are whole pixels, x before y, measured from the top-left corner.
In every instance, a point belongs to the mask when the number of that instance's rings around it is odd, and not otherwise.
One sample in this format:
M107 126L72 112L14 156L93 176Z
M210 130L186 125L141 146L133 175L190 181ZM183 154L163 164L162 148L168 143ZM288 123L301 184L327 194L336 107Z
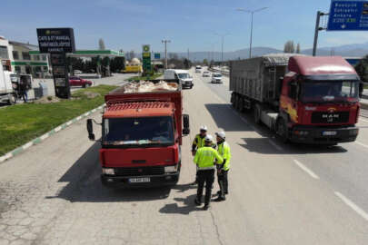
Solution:
M283 142L336 144L358 135L360 79L340 56L270 54L231 62L231 103Z

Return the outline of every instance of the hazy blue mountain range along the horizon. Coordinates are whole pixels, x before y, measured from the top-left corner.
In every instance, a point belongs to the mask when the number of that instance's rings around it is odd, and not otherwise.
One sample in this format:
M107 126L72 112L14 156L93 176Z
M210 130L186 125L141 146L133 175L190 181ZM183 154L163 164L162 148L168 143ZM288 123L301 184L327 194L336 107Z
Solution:
M272 47L253 47L252 56L264 54L283 53L283 50ZM312 54L312 49L302 50L302 54ZM187 58L187 53L175 53L179 58ZM364 44L345 44L332 47L321 47L317 49L317 55L342 55L344 57L362 57L368 54L368 43ZM232 52L224 52L223 60L245 59L249 57L249 48L240 49ZM169 54L170 56L170 54ZM164 54L161 54L164 57ZM189 59L192 61L203 61L204 59L221 61L221 52L190 52Z

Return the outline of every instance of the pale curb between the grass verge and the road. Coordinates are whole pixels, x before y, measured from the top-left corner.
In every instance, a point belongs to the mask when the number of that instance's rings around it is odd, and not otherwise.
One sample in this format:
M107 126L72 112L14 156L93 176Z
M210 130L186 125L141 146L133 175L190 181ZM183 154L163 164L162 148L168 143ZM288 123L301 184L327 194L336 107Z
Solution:
M27 142L22 146L19 146L18 148L15 148L15 150L13 150L11 152L7 152L5 155L0 156L0 163L5 162L6 160L8 160L12 157L15 157L16 155L20 154L21 152L25 152L25 150L30 148L32 145L35 145L37 143L45 141L45 139L47 139L51 135L55 134L56 132L64 130L65 128L72 125L73 123L78 122L78 121L82 120L83 118L89 116L90 114L97 112L97 110L101 110L103 107L104 107L104 104L98 106L97 108L94 108L93 110L91 110L87 113L83 113L83 114L75 117L74 119L72 119L68 122L65 122L65 123L55 127L55 129L53 129L49 132L46 132L45 134L35 138L34 140L32 140L30 142Z

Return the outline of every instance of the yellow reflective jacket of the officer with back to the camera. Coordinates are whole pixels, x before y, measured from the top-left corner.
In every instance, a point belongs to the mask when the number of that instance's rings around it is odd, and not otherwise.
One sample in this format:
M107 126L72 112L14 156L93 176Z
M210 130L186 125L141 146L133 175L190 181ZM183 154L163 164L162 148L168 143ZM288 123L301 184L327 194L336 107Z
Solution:
M214 169L214 160L217 164L224 162L220 154L210 146L198 149L194 156L194 163L197 164L199 171Z

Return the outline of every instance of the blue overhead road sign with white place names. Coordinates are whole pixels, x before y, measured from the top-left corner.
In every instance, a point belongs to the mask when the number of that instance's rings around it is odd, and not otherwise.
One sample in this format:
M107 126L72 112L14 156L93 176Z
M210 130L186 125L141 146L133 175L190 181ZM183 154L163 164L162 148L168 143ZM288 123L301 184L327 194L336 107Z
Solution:
M327 31L368 31L368 1L333 0Z

